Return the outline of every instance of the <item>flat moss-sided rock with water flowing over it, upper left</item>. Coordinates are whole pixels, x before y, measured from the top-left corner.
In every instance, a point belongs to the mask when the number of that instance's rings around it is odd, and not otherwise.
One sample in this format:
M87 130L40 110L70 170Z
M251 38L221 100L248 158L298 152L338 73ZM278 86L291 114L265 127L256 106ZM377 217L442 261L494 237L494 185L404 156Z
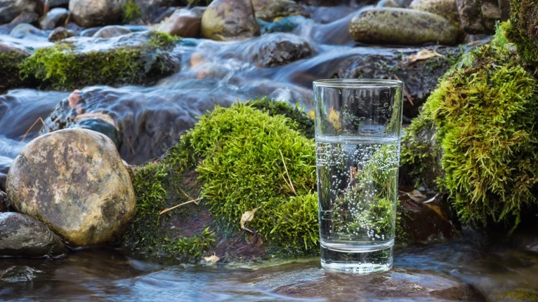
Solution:
M178 62L169 54L176 42L160 32L112 39L73 37L36 50L20 64L20 74L55 90L151 83L176 70Z

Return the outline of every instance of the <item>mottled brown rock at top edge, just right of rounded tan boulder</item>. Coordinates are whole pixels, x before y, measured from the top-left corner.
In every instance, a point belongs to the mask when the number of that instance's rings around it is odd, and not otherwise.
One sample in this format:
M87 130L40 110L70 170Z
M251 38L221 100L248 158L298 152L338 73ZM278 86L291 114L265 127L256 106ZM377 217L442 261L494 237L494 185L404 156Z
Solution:
M256 18L268 22L292 15L310 17L310 13L303 6L291 0L253 0L252 4L254 5Z

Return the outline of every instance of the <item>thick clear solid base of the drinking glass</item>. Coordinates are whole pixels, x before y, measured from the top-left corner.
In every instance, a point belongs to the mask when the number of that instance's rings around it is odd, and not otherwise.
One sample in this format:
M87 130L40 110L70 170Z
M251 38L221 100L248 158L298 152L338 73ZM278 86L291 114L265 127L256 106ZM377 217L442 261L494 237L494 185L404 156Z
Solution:
M321 266L335 273L370 274L393 267L393 247L374 252L339 252L321 247Z

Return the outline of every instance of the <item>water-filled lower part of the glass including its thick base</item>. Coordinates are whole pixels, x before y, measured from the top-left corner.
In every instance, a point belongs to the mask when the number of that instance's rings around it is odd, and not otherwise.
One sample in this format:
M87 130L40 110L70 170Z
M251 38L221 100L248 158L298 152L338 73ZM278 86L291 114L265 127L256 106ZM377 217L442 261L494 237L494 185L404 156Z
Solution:
M322 265L357 273L392 265L400 141L316 137Z

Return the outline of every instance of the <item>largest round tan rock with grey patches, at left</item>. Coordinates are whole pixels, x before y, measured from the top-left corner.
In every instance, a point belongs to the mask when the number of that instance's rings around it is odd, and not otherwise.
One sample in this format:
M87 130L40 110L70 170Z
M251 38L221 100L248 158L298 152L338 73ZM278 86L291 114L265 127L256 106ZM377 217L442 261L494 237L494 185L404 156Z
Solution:
M116 242L135 214L116 146L91 130L59 130L29 142L11 165L6 190L18 212L72 246Z

